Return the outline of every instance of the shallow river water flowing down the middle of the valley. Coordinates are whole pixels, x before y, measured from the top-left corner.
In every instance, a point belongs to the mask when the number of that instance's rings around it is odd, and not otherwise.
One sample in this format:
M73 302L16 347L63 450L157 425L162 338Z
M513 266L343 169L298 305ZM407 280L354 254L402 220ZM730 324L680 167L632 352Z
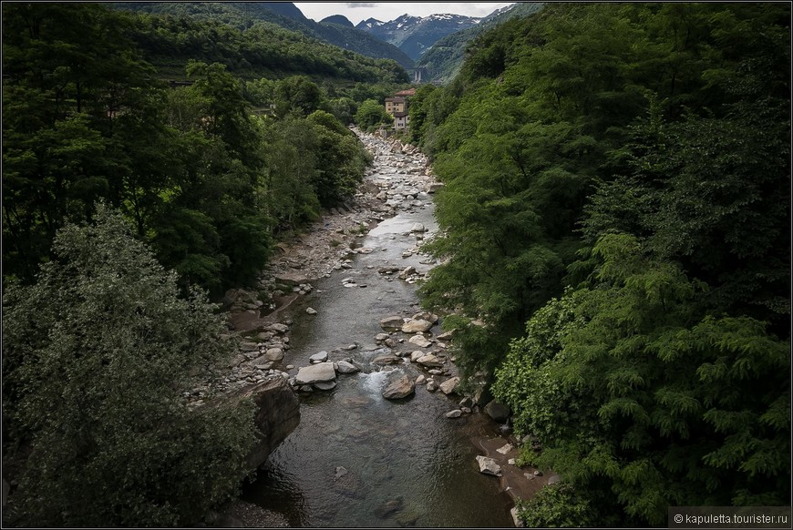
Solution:
M376 157L371 178L398 178L386 160ZM370 364L383 353L375 341L380 319L418 311L416 285L378 269L431 267L426 256L403 252L417 245L415 223L429 236L437 229L432 202L406 206L360 240L371 253L352 255L349 269L314 281L314 290L288 308L294 321L288 362L305 366L326 351L332 361L351 357L364 367L340 374L332 391L301 393L300 425L271 454L269 469L244 486L243 500L283 515L291 526L512 526L510 497L497 477L479 473L481 451L472 442L497 434L498 425L483 413L448 419L461 396L423 385L404 400L386 400L381 391L389 378L407 373L415 380L426 372L407 360ZM355 287L343 285L349 278ZM307 307L317 314L307 315ZM441 332L438 325L431 331ZM351 344L354 350L344 349ZM397 349L419 348L405 341Z

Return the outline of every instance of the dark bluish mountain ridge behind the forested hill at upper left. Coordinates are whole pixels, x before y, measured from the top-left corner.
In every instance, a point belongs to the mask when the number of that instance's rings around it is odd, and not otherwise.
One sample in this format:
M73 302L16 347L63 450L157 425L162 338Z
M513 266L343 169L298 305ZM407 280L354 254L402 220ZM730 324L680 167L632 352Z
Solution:
M393 59L403 68L410 68L414 64L413 59L397 46L383 42L366 31L357 30L351 23L347 26L343 21L342 24L338 24L338 21L322 24L314 22L291 2L113 2L108 5L129 11L214 19L241 29L257 21L270 22L362 56Z

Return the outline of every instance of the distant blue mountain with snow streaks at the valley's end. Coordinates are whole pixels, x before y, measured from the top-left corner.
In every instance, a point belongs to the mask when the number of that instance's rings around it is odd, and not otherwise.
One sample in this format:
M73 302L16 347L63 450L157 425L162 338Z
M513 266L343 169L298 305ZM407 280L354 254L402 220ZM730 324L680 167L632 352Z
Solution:
M482 18L465 15L402 15L390 22L376 18L362 20L356 29L366 31L383 42L397 46L410 58L417 60L438 39L478 25Z

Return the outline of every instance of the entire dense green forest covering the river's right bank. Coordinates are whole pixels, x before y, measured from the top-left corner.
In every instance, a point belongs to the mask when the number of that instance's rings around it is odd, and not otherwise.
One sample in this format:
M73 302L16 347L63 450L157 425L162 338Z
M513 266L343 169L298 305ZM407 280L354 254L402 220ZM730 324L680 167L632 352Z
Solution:
M412 99L423 303L561 476L527 526L789 505L789 43L787 4L549 4Z

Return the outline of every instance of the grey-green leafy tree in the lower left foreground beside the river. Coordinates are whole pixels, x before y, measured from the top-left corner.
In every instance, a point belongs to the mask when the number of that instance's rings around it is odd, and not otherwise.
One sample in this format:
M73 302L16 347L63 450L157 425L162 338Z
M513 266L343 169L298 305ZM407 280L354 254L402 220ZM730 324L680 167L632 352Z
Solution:
M255 442L249 403L183 398L191 373L211 377L234 350L221 317L201 290L180 299L176 274L104 206L53 249L3 300L4 417L33 447L15 521L194 523L235 493Z

